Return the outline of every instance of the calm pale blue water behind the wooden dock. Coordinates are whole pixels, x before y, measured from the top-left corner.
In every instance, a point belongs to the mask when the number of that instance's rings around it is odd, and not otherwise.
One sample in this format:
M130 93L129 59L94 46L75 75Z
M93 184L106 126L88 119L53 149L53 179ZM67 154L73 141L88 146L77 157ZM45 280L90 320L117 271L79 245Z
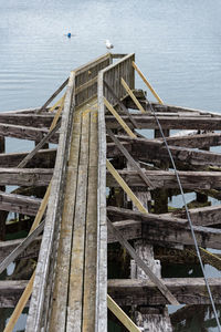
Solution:
M136 53L166 103L220 112L220 0L0 0L0 111L42 105L109 39L115 52ZM8 139L7 149L24 145Z

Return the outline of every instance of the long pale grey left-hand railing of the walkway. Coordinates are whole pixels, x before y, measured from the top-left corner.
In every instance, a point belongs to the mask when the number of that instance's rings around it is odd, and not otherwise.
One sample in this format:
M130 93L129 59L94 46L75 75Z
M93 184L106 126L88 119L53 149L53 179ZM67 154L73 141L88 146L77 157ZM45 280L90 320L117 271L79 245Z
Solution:
M63 190L65 186L66 162L72 134L72 117L74 110L74 82L75 74L71 73L64 102L60 142L57 146L56 164L52 180L52 188L48 205L42 246L36 266L36 274L33 286L27 332L39 332L46 325L48 311L50 309L50 294L53 287L53 268L56 257L56 241L59 224L63 207Z

